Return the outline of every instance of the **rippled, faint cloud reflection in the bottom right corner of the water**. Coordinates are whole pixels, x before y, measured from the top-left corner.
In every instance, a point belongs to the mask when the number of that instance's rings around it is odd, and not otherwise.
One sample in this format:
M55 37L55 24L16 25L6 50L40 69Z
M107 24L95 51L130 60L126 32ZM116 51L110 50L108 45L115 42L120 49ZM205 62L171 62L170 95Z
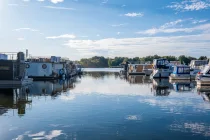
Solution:
M181 132L191 132L194 134L201 134L204 136L210 136L210 126L204 123L182 123L182 124L172 124L170 129L173 131Z

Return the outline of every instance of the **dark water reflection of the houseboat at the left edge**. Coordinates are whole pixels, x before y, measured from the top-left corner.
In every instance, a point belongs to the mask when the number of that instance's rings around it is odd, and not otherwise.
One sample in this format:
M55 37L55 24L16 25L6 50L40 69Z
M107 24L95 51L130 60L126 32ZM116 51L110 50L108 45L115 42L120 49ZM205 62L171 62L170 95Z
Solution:
M17 109L19 116L24 115L26 105L32 102L28 91L28 87L0 89L0 115L7 113L10 109Z

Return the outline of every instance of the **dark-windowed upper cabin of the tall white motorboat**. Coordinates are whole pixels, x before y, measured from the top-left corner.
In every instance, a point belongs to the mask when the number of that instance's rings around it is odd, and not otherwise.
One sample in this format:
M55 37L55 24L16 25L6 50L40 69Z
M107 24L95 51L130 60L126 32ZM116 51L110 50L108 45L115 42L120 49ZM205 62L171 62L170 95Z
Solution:
M169 65L169 61L167 59L162 58L153 60L153 67L155 69L168 69L169 66L167 65Z

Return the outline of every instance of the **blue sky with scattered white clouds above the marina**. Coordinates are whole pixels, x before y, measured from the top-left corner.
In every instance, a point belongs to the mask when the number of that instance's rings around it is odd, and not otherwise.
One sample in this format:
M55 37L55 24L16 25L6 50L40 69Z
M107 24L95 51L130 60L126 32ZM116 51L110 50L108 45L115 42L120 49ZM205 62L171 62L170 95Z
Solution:
M1 0L1 52L72 60L95 55L210 54L210 0Z

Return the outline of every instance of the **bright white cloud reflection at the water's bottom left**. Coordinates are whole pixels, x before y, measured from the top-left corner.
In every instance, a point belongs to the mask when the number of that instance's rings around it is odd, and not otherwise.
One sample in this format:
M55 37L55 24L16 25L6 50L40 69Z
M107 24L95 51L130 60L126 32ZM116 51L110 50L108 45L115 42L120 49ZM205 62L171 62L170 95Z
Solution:
M15 138L14 140L22 140L24 139L24 136L28 136L31 139L47 139L47 140L51 140L53 138L56 138L60 135L62 135L62 130L52 130L49 132L48 135L45 135L46 132L45 131L41 131L35 134L28 134L28 133L24 133L23 135L18 135L17 138Z

